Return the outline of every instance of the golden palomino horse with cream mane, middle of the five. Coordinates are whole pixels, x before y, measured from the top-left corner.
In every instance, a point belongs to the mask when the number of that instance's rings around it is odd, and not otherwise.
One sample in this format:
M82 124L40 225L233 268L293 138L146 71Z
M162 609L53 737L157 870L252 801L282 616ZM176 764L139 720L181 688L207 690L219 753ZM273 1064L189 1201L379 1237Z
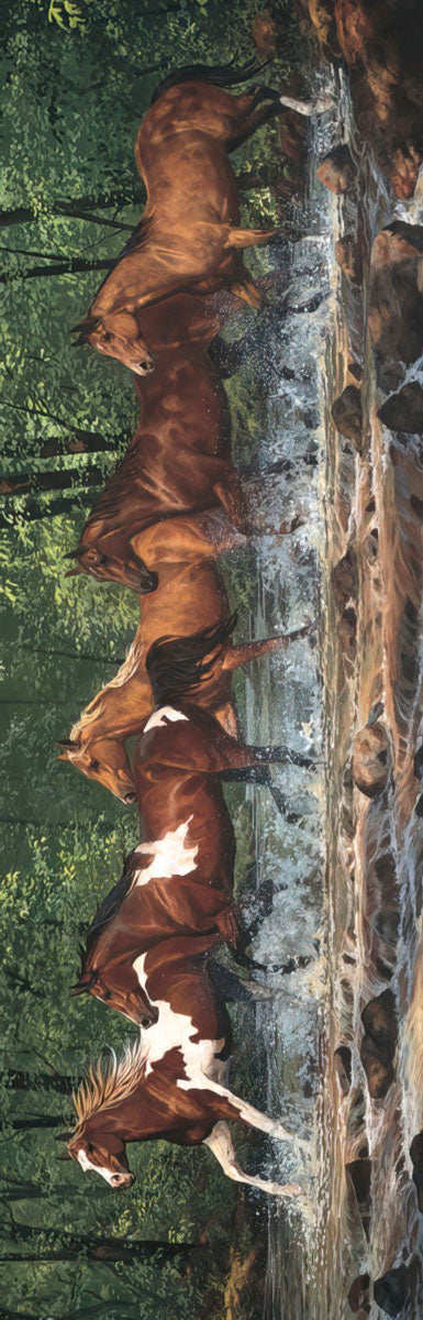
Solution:
M202 631L210 623L224 624L229 618L228 598L213 560L199 564L166 564L157 591L140 598L141 622L128 657L119 673L83 710L70 737L59 742L58 759L70 762L88 779L115 793L121 803L136 800L133 774L125 741L140 734L152 714L153 694L146 672L149 647L163 632L177 636ZM195 701L206 706L232 737L239 725L232 697L232 675L245 664L273 651L286 649L306 638L307 623L293 632L233 645L228 635L216 652L215 664L195 692ZM244 772L246 776L246 771Z

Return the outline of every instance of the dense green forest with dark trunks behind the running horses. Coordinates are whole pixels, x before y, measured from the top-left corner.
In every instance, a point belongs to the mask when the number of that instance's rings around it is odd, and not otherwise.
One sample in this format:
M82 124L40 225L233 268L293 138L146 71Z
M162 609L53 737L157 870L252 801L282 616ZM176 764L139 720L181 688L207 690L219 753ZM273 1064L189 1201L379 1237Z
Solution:
M137 627L132 593L65 578L62 557L137 421L129 372L88 348L71 352L69 331L142 210L133 141L154 86L195 61L242 65L256 53L257 17L252 0L20 0L3 11L4 1320L261 1313L269 1206L260 1193L224 1181L207 1151L152 1143L133 1147L137 1181L115 1197L59 1163L53 1139L72 1121L70 1093L88 1057L128 1036L121 1018L95 999L72 1001L69 989L84 929L137 842L134 813L57 762L57 739L113 677ZM287 90L304 58L294 4L274 4L273 18L277 53L262 77ZM242 223L278 219L289 162L277 125L256 133L233 164ZM248 260L269 267L266 256ZM231 334L253 317L242 310ZM260 360L227 388L235 458L248 462L261 424ZM246 636L253 557L249 573L228 560L225 581ZM242 715L242 676L237 700ZM229 801L241 892L248 801L236 788ZM237 1051L233 1085L264 1102L253 1015L237 1016L249 1045ZM261 1139L236 1140L258 1167Z

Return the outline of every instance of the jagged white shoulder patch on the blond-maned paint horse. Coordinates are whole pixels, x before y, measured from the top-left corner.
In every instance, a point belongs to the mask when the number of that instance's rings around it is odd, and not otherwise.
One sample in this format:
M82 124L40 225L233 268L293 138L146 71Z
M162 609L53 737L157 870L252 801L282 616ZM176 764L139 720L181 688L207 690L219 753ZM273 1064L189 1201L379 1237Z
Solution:
M145 958L146 953L141 953L133 962L133 970L138 977L141 990L149 994L146 990L148 975L144 970ZM208 1071L211 1076L215 1072L216 1077L221 1076L221 1060L216 1060L215 1055L221 1049L223 1040L194 1041L192 1036L196 1036L198 1031L192 1024L192 1018L188 1018L184 1012L175 1012L167 999L152 999L150 995L149 999L154 1005L154 1008L158 1008L158 1020L149 1027L144 1038L148 1049L145 1076L152 1072L154 1063L165 1057L169 1049L178 1048L183 1056L183 1067L187 1077L190 1078L191 1073L192 1077L200 1074L200 1081L196 1081L196 1085L199 1084L200 1089L207 1089ZM179 1081L177 1085L179 1085ZM186 1085L190 1088L191 1081L188 1080Z

